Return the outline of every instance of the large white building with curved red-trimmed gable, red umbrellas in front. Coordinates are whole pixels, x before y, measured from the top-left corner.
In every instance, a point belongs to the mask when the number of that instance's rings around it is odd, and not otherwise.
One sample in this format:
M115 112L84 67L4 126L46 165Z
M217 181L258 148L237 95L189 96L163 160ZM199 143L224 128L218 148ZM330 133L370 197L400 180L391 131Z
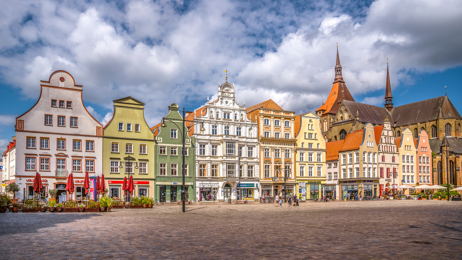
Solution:
M37 103L16 118L16 183L21 200L34 196L36 172L42 177L43 197L57 189L60 199L70 199L65 190L67 176L73 173L76 190L82 195L85 171L102 173L103 126L94 119L82 100L82 86L71 74L55 71L48 81L40 81ZM66 197L64 197L66 196Z

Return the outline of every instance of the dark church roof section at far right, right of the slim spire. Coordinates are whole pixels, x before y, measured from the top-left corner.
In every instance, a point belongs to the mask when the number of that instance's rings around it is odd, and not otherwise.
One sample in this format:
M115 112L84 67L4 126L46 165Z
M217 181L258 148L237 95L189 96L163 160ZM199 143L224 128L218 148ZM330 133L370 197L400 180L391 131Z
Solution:
M390 121L395 124L395 127L437 120L438 118L462 119L447 96L398 106L393 108L390 113L393 115L393 120Z

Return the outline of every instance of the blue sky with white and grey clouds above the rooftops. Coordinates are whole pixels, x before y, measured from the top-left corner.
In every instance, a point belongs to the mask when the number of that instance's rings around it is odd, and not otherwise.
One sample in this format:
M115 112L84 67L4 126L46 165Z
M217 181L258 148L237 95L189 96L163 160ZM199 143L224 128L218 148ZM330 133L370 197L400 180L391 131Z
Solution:
M272 98L301 113L327 97L337 42L356 101L383 105L388 57L395 106L442 96L447 85L461 111L461 13L451 0L3 1L0 149L55 70L84 85L102 123L126 96L146 103L150 125L170 103L201 107L226 68L241 103Z

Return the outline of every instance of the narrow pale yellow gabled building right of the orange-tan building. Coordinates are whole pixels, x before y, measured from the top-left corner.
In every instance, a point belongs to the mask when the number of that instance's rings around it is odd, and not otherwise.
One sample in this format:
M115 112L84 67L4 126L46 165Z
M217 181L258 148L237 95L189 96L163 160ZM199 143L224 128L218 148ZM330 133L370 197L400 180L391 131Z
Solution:
M332 197L326 184L326 142L322 137L319 116L314 112L295 116L295 193L300 200Z

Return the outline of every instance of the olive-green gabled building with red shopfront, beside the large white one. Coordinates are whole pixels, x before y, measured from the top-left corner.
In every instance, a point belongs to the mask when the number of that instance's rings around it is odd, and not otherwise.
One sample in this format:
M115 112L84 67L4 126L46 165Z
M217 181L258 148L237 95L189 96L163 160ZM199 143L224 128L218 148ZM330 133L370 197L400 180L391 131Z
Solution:
M123 198L122 183L128 173L133 176L134 196L155 195L156 145L144 105L133 97L114 100L114 114L103 128L103 173L111 197Z

